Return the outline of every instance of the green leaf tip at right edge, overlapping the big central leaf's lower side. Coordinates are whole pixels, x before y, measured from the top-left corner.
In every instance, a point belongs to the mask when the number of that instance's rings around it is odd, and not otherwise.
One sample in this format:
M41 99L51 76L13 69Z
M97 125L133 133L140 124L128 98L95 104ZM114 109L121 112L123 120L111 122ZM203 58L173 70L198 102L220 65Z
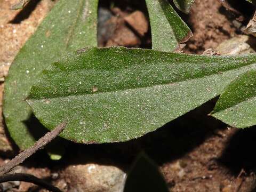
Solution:
M256 70L237 77L224 92L211 115L237 128L256 125Z

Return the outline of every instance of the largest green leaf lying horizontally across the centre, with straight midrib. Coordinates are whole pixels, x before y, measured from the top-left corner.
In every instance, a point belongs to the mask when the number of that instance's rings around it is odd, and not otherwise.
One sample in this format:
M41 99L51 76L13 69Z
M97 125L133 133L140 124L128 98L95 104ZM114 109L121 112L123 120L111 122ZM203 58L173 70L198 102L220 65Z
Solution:
M82 143L127 141L216 97L255 62L255 55L92 47L43 71L27 101L45 127L68 122L61 137Z

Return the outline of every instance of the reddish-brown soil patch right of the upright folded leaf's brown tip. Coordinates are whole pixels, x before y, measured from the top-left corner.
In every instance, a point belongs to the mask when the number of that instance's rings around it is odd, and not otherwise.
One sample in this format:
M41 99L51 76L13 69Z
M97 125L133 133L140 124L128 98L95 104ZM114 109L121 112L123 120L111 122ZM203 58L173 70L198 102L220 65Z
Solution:
M189 25L194 37L190 39L187 48L191 53L202 53L206 49L215 48L235 35L235 28L225 15L219 12L217 1L196 1L189 13Z

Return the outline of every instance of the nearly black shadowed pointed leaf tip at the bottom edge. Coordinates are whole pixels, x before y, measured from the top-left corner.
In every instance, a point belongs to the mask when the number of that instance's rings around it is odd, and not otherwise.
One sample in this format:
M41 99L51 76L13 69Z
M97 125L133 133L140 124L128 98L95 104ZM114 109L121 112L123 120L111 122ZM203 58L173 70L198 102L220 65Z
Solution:
M124 192L168 192L163 175L157 165L146 155L140 154L128 174Z

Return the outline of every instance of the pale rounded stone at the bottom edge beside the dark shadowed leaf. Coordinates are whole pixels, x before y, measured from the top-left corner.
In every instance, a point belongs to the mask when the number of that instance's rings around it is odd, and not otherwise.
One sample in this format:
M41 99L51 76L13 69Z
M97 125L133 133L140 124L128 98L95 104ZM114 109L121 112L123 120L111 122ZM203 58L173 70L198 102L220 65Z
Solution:
M126 174L115 166L99 164L69 165L61 173L67 183L58 186L69 192L121 192ZM58 184L57 184L58 185Z

